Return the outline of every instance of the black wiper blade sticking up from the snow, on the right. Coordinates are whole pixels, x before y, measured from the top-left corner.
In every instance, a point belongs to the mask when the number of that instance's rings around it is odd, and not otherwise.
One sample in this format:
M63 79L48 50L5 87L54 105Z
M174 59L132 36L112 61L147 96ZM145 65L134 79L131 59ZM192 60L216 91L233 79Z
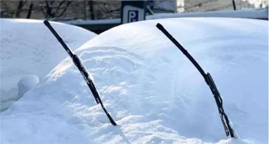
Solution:
M187 50L185 50L180 44L179 42L173 37L171 36L165 29L164 27L157 23L156 27L165 35L167 36L178 48L179 50L187 56L187 58L192 62L192 64L197 68L197 70L202 74L202 77L204 78L206 84L209 86L211 92L213 93L213 96L215 98L216 104L218 106L218 110L220 113L220 117L224 126L224 130L225 130L225 134L226 136L231 136L232 138L234 138L234 130L233 127L230 125L230 120L228 118L228 116L225 114L224 109L223 109L223 100L222 97L220 95L219 90L217 89L211 75L209 72L205 73L201 66L196 62L196 60L188 53Z

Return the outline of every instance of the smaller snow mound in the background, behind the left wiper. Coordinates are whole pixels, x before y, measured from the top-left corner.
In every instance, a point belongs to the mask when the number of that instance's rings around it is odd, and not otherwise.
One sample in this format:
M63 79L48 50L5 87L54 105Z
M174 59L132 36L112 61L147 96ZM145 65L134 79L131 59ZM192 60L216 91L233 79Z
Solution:
M73 50L96 34L80 27L53 22ZM0 19L1 33L1 110L18 97L17 83L25 75L45 76L67 57L42 20Z

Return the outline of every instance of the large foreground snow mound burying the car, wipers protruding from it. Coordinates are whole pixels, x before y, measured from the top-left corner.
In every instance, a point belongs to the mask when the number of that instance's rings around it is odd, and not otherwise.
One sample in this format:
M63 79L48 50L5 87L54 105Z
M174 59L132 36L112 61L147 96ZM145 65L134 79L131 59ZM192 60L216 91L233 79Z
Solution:
M211 73L237 139L225 137L201 74L157 23ZM268 21L135 22L94 37L75 53L118 125L111 125L67 58L1 113L3 144L268 144Z

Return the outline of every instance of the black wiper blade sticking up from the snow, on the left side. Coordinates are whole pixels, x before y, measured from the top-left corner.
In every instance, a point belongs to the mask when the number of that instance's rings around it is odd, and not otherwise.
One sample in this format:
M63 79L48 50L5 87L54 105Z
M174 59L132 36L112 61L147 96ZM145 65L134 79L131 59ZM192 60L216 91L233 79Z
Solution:
M93 81L90 79L89 73L87 72L85 66L82 64L81 60L79 59L79 57L74 54L66 45L66 43L63 41L63 39L57 34L57 32L53 29L53 27L50 25L50 23L45 20L44 21L45 26L47 26L47 28L51 31L51 33L57 38L57 40L61 43L61 45L64 47L64 49L67 51L67 54L72 58L74 64L77 66L78 70L80 71L80 73L82 74L84 80L87 82L88 87L90 88L90 91L93 95L93 97L95 98L95 101L97 104L100 103L101 107L103 108L103 110L105 111L107 117L109 118L110 122L112 125L116 126L117 124L115 123L115 121L112 119L112 117L110 116L110 114L108 113L107 109L104 107L101 98L99 96L99 93L97 91L97 89L94 86Z

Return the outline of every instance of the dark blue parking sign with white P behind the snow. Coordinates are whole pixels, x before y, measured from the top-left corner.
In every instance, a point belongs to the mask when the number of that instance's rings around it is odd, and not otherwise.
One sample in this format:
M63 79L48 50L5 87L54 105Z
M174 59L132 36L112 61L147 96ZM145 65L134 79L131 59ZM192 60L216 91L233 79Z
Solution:
M131 0L121 3L121 23L145 20L145 1Z

